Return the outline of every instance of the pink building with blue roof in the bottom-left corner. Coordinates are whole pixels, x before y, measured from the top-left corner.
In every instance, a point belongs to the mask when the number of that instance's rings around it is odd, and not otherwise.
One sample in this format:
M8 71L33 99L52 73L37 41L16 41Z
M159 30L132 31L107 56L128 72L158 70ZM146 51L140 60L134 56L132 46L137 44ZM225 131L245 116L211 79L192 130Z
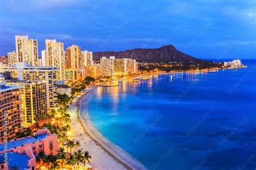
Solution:
M30 137L0 143L0 169L8 170L8 167L36 169L35 156L41 151L46 155L58 154L56 134L41 129Z

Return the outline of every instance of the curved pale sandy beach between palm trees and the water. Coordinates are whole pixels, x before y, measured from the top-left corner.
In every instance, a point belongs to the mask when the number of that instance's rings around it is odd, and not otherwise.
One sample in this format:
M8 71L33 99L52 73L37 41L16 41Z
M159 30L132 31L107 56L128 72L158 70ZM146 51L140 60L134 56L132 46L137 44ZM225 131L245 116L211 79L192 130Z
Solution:
M80 100L92 94L95 89L97 87L87 88L71 103L68 110L71 116L71 139L80 142L81 150L90 152L92 157L90 164L94 169L146 169L129 153L112 144L95 130L87 114L80 114Z

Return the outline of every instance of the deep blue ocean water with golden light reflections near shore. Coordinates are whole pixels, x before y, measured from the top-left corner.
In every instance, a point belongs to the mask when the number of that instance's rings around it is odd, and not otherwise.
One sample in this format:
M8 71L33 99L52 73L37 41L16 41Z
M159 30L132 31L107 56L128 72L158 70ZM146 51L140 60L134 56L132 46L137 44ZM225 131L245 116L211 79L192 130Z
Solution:
M256 168L256 62L104 87L83 106L149 169Z

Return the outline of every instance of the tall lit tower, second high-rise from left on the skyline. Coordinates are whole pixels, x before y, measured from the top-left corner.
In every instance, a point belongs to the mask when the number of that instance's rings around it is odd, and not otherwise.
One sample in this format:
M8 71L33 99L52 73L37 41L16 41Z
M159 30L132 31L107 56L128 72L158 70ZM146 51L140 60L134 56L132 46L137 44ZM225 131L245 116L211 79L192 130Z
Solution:
M42 52L43 53L43 52ZM57 74L58 80L64 79L64 46L62 42L56 42L56 39L45 40L45 55L42 54L42 58L47 67L59 68L59 74Z

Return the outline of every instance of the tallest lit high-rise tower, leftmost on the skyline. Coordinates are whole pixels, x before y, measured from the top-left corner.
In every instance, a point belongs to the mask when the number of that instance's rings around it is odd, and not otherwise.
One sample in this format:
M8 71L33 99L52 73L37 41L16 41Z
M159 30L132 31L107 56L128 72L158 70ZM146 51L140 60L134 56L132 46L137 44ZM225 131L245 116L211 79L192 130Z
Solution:
M28 62L30 66L37 66L38 46L37 40L29 36L15 36L16 62Z

